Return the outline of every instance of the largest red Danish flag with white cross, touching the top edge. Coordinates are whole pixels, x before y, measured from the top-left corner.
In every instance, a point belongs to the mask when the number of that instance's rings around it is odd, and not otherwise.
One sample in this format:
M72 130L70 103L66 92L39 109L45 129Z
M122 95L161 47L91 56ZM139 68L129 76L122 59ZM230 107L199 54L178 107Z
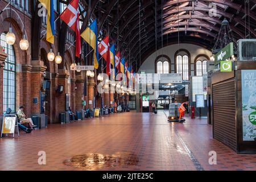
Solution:
M79 0L72 0L63 13L60 14L60 19L76 32L76 57L80 57L81 38L79 26Z

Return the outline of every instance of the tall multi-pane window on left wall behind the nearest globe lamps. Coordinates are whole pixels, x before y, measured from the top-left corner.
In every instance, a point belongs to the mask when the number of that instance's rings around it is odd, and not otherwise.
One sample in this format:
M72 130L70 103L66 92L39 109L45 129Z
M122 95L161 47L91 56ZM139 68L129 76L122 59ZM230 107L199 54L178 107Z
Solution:
M3 111L6 111L7 107L15 111L15 55L13 46L6 43L5 33L1 34L0 45L7 53L3 68Z

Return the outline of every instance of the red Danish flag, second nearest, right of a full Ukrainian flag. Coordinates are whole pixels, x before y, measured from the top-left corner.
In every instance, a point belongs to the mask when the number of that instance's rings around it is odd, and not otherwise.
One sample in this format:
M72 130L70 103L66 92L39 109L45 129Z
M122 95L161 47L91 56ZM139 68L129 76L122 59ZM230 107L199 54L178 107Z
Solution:
M106 61L106 74L110 75L110 53L109 53L109 36L106 36L100 44L98 44L98 52Z

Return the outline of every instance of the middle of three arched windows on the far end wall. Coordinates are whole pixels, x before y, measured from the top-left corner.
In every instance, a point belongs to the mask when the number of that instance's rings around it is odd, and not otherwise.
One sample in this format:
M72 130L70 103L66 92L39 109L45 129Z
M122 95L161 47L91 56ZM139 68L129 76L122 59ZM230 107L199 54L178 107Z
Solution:
M188 55L176 56L176 73L182 73L183 80L189 80Z

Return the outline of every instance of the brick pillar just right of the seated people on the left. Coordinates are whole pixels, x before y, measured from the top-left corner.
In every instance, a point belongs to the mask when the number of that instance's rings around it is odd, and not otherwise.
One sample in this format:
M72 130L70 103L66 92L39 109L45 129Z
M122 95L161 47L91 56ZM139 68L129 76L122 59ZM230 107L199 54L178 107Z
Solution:
M31 114L38 115L40 114L40 91L42 90L43 82L43 73L46 71L47 67L44 66L43 61L31 61L31 77L30 77L30 103L31 103ZM33 98L37 98L37 104L33 103ZM25 111L28 111L28 108L25 107ZM27 113L28 115L28 113ZM28 115L30 116L30 115Z

